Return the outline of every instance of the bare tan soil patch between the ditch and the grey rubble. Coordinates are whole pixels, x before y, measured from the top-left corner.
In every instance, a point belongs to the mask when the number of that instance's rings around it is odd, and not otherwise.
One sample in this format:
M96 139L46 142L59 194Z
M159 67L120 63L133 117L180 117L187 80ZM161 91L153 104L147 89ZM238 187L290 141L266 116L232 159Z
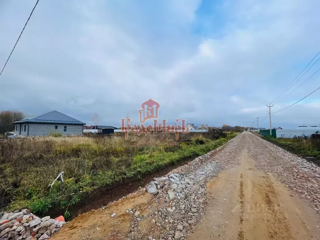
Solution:
M126 239L131 223L131 214L126 210L137 208L140 214L148 216L151 214L148 206L152 204L155 204L153 196L144 191L131 194L121 201L109 204L106 209L101 208L79 215L50 239ZM116 216L111 217L113 213L116 213ZM151 230L150 223L150 219L141 221L139 223L141 232L147 234L147 231Z

